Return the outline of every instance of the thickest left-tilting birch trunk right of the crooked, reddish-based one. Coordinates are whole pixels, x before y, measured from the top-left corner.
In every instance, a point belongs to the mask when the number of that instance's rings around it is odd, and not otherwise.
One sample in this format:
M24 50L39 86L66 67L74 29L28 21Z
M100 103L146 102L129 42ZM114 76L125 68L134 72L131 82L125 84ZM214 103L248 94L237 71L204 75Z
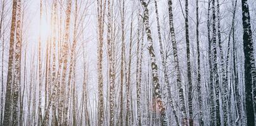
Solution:
M177 86L178 86L178 96L180 98L181 111L182 111L182 125L187 125L187 113L185 108L185 100L182 88L182 80L180 75L180 67L178 63L178 50L177 50L177 42L175 38L175 31L173 26L173 13L172 13L172 0L168 0L168 11L169 11L169 21L170 21L170 31L172 35L172 45L173 45L173 56L175 62L175 71L177 72Z

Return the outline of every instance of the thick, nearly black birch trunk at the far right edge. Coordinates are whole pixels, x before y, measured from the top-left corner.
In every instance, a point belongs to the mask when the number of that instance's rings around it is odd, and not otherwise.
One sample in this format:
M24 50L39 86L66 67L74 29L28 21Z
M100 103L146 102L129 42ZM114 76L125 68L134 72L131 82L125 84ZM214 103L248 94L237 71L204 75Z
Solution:
M247 0L241 0L241 10L243 15L243 52L245 54L245 105L247 125L255 125L255 112L253 112L253 108L255 108L256 111L256 71L253 55L252 28L250 25L250 11Z

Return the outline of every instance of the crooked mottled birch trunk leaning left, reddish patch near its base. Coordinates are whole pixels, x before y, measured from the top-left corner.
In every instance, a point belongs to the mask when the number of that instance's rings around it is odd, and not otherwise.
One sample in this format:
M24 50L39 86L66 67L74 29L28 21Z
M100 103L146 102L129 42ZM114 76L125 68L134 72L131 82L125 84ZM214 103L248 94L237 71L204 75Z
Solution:
M151 69L152 69L152 76L153 76L153 84L154 84L154 93L156 95L156 103L158 104L158 109L160 110L161 114L161 125L168 125L167 118L166 118L166 109L165 105L163 103L163 100L161 98L161 90L160 90L160 83L158 79L158 67L156 65L156 55L154 53L154 48L153 48L153 39L151 36L151 30L149 28L149 12L148 12L148 4L144 1L141 0L141 4L143 5L144 8L144 25L145 25L145 30L146 34L148 37L148 50L149 50L149 55L151 58Z

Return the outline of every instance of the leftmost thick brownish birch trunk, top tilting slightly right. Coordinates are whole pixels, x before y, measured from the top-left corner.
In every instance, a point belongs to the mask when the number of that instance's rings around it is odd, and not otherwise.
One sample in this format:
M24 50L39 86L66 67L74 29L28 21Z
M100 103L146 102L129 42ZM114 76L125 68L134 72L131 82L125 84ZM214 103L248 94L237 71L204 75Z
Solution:
M3 125L11 125L11 85L13 80L13 55L15 43L15 28L16 28L16 6L17 0L13 1L13 12L11 17L11 33L9 41L9 60L8 60L8 74L6 82L6 97L4 103L4 122Z

